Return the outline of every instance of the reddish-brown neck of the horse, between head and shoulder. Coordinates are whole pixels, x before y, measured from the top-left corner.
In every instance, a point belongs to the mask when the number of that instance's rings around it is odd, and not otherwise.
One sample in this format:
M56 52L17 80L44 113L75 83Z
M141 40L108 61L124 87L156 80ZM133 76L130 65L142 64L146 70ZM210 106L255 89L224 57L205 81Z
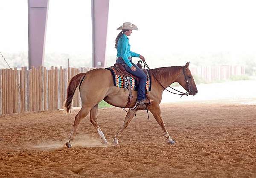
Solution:
M155 68L152 69L154 77L160 82L163 87L167 88L174 82L177 82L177 78L182 71L182 67L175 66L175 67L164 67L164 68Z

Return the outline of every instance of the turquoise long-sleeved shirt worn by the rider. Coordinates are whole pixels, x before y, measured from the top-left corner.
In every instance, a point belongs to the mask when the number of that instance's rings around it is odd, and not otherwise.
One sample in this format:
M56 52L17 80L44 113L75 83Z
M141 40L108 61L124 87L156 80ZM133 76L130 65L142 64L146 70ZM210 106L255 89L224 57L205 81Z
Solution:
M124 62L131 68L132 64L128 57L140 57L140 54L134 53L130 51L131 45L129 44L129 38L122 34L117 42L117 55L116 57L122 57Z

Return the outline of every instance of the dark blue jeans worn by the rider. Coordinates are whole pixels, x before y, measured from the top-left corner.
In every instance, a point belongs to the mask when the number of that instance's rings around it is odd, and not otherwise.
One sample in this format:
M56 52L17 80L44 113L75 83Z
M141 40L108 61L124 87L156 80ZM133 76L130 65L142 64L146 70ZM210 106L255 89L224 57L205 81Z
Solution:
M145 88L148 79L147 75L136 64L131 62L131 64L137 69L136 71L132 71L131 68L129 68L128 65L123 62L123 60L121 60L117 59L116 63L122 64L127 72L133 74L134 76L137 76L140 79L140 82L138 84L138 100L146 99Z

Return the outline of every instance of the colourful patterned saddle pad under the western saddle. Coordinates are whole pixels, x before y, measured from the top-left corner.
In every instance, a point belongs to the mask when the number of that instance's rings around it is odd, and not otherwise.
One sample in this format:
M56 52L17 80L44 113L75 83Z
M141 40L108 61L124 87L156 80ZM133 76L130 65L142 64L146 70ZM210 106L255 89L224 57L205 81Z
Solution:
M109 71L111 71L112 75L113 75L113 81L114 81L114 85L116 87L120 87L120 88L125 88L128 89L128 79L127 76L122 76L122 75L117 75L116 74L116 69L111 66L109 68L106 68ZM146 69L146 75L148 76L147 82L146 82L146 91L150 91L151 90L151 76L149 71ZM130 79L130 83L131 83L131 90L138 90L138 82L137 79L135 79L134 77L129 76Z

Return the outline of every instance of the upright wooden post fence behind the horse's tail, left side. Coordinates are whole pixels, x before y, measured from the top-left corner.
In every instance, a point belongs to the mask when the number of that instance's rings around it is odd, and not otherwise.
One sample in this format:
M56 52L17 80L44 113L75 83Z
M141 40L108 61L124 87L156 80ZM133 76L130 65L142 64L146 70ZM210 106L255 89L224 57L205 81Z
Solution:
M0 115L63 108L68 81L92 68L0 69ZM79 92L73 107L81 106Z

